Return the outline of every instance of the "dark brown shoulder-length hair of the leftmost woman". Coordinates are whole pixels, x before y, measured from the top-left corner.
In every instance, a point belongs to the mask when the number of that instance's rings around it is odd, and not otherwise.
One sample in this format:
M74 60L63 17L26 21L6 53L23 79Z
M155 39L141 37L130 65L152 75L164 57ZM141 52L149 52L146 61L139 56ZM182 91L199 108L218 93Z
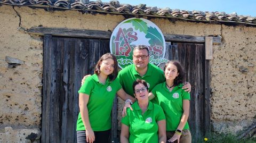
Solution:
M100 60L95 65L94 73L95 74L100 74L100 62L102 62L103 60L107 60L108 58L111 58L112 60L114 60L114 71L113 71L112 74L108 75L109 79L111 81L113 81L113 80L116 79L117 74L118 74L117 60L116 60L116 57L113 54L107 53L107 54L102 55L100 57Z

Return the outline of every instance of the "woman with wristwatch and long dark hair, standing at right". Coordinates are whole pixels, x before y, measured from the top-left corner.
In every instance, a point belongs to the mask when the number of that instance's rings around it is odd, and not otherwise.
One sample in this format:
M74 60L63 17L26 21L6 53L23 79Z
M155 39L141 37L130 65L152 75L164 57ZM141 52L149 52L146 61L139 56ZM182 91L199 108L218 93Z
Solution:
M190 143L188 125L190 94L182 89L185 72L178 61L169 61L164 67L165 82L150 92L149 98L158 99L166 116L166 136L169 142Z

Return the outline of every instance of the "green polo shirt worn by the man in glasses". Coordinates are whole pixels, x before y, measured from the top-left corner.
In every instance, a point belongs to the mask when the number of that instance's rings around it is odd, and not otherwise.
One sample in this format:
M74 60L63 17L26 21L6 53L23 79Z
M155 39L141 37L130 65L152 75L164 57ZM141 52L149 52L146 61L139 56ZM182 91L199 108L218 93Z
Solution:
M118 73L118 79L124 89L124 91L133 96L133 89L132 84L137 79L146 80L148 83L149 92L158 84L165 81L163 71L153 64L148 64L148 70L145 75L142 77L140 74L135 70L135 65L131 64L126 66ZM153 103L157 103L157 101L151 100Z

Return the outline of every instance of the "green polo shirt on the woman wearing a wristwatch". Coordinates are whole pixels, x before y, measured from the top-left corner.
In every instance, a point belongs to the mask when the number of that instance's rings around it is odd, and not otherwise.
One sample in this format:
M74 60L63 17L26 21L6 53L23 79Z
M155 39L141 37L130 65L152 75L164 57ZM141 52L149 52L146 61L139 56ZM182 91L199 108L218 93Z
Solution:
M151 91L158 98L159 105L166 116L166 130L175 131L183 114L183 100L190 100L190 94L182 89L183 84L175 86L170 92L166 82L160 83ZM189 129L188 122L183 129Z

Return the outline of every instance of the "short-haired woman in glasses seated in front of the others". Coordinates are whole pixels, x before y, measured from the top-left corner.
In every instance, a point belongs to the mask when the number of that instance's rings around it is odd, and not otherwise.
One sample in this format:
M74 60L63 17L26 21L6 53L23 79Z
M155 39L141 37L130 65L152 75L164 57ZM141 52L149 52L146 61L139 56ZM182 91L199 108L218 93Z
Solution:
M137 102L122 119L121 143L165 143L165 115L159 105L149 102L147 82L137 79L132 87Z

